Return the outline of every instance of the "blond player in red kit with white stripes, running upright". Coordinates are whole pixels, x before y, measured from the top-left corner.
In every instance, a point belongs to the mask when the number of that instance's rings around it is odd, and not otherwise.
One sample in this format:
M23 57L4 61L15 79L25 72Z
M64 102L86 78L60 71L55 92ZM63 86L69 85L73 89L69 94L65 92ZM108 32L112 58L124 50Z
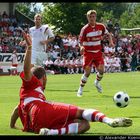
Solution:
M83 54L84 74L80 80L80 87L77 92L78 97L82 96L83 87L88 80L93 65L97 70L94 85L98 92L102 93L102 87L99 82L104 74L104 59L101 46L101 40L104 35L108 36L109 46L114 47L111 34L102 23L96 22L96 15L97 13L95 10L89 10L87 12L88 23L81 29L79 35L80 50L81 54Z

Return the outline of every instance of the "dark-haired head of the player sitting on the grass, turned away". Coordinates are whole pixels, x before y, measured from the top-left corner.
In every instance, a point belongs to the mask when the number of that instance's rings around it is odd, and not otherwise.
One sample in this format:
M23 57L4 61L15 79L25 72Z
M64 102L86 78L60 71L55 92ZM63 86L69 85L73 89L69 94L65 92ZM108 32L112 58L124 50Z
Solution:
M42 81L43 88L45 89L45 86L46 86L46 83L47 83L47 76L46 76L45 69L41 66L32 67L31 72L34 76L37 77L37 79Z

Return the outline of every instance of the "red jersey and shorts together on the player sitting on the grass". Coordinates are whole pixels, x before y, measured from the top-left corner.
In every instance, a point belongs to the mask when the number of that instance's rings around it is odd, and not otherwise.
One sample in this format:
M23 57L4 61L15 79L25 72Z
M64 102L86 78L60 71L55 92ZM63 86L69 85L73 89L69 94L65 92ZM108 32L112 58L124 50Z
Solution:
M35 76L32 76L30 81L25 81L22 72L20 77L23 82L18 114L24 127L23 131L39 133L41 128L60 129L73 123L77 107L46 101L43 86Z

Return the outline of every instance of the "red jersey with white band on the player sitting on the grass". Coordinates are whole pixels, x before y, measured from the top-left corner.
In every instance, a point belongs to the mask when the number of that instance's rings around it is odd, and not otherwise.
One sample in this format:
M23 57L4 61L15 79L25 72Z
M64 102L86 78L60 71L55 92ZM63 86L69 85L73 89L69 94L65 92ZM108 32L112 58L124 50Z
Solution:
M29 110L33 106L33 101L45 101L43 86L41 82L33 75L31 80L24 80L24 72L20 73L22 86L20 88L20 104L18 114L24 126L23 131L33 131L33 125L30 122Z

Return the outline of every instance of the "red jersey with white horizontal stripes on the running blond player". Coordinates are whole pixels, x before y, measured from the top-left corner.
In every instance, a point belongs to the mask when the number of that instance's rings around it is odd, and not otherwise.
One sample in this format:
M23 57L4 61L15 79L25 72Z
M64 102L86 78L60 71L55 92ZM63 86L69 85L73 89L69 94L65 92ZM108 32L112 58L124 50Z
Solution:
M96 23L94 27L86 24L80 32L79 42L83 44L86 51L102 50L101 40L102 36L107 34L108 30L101 23Z

